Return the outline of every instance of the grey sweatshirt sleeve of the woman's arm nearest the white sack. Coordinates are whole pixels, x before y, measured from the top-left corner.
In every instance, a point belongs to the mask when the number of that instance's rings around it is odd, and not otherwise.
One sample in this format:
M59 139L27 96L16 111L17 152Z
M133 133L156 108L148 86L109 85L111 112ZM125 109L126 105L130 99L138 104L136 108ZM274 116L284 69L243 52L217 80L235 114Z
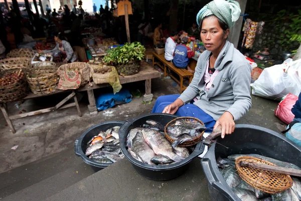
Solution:
M251 66L249 64L234 68L231 72L234 104L226 111L232 114L234 121L244 116L252 106L250 95Z

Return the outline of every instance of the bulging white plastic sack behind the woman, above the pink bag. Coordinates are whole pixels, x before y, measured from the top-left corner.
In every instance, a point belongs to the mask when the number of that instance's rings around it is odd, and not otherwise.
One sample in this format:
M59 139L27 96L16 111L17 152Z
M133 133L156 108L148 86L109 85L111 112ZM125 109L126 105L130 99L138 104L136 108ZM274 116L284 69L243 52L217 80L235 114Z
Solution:
M296 61L286 59L282 64L265 68L262 71L253 83L252 94L281 100L288 93L298 95L300 91L301 59Z

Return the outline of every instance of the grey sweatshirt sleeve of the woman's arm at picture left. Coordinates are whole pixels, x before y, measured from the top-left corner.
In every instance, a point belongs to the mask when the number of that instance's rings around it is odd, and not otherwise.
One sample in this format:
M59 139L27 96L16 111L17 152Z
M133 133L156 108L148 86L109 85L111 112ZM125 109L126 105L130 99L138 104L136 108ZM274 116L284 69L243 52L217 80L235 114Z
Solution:
M200 92L198 89L198 84L201 78L201 73L202 73L202 67L199 58L191 83L179 97L179 99L181 99L184 102L184 104L189 103Z

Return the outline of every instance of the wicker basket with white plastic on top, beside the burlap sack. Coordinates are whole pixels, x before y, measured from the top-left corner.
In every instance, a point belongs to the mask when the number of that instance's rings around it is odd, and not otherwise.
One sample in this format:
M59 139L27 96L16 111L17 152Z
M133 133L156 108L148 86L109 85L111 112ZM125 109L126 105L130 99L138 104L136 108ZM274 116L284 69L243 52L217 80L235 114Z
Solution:
M27 82L37 95L53 93L58 89L58 68L54 62L39 62L27 69Z

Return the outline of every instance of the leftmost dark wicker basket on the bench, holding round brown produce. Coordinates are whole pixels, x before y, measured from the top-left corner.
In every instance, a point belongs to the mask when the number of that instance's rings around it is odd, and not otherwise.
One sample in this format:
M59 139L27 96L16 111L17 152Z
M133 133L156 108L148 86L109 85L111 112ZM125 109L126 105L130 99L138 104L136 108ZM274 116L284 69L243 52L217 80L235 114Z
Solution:
M24 71L25 69L9 69L0 71L0 77L7 73L19 73L20 71ZM18 82L7 85L0 86L0 103L8 103L16 100L21 100L25 96L27 96L29 90L26 82L26 76L23 76Z

